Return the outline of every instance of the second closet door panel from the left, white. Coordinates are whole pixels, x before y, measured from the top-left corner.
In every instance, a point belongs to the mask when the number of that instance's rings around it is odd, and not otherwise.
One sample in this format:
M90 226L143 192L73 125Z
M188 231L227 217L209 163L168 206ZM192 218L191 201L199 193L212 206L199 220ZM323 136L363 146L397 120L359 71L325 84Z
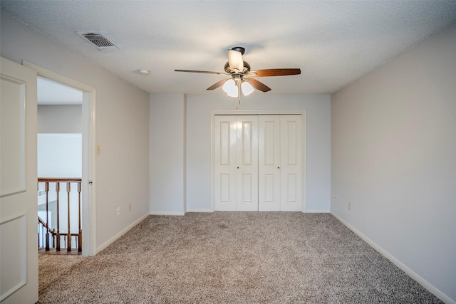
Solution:
M258 211L258 116L237 116L237 211Z

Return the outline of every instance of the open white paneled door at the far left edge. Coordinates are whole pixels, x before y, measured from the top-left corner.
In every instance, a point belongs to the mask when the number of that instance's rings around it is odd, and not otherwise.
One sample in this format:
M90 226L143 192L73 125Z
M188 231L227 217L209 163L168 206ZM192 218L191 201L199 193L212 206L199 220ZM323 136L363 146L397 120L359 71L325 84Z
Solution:
M36 72L1 58L0 102L0 301L36 303Z

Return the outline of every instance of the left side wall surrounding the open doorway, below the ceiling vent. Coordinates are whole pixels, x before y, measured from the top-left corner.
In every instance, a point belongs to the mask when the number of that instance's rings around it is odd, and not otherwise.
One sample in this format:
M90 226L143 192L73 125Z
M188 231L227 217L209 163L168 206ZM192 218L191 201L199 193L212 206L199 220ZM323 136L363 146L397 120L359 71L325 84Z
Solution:
M95 159L96 243L103 248L149 213L150 95L4 13L0 21L1 56L96 89L95 139L101 146Z

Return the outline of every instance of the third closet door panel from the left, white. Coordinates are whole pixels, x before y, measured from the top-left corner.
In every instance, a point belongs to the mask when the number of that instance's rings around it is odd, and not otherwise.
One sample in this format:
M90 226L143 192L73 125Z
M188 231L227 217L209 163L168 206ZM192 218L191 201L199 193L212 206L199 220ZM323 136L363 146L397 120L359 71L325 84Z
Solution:
M260 115L258 210L280 211L280 116Z

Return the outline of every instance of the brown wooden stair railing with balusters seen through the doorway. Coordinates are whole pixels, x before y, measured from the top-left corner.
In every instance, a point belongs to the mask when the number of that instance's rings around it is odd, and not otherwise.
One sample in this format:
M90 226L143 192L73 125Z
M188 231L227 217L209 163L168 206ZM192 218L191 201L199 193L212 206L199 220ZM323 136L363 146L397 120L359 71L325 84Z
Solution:
M60 192L60 183L66 183L66 192L67 192L67 204L68 204L68 231L66 234L60 234L60 214L59 214L59 192ZM82 229L81 229L81 184L82 184L82 179L79 177L38 177L38 184L39 183L44 183L45 189L44 191L46 192L46 221L43 221L38 216L38 225L41 224L43 227L46 228L46 251L49 251L49 234L51 234L52 239L56 238L56 251L61 250L60 246L60 237L61 236L66 236L66 240L68 243L67 246L67 251L71 251L71 236L77 236L78 237L78 251L82 251ZM49 226L49 219L48 219L48 204L49 204L49 199L48 199L48 192L49 192L49 183L55 183L56 184L56 211L57 211L57 229L51 229ZM71 227L70 227L70 193L71 193L71 183L77 183L78 188L78 232L77 233L71 233ZM38 233L39 237L39 233Z

